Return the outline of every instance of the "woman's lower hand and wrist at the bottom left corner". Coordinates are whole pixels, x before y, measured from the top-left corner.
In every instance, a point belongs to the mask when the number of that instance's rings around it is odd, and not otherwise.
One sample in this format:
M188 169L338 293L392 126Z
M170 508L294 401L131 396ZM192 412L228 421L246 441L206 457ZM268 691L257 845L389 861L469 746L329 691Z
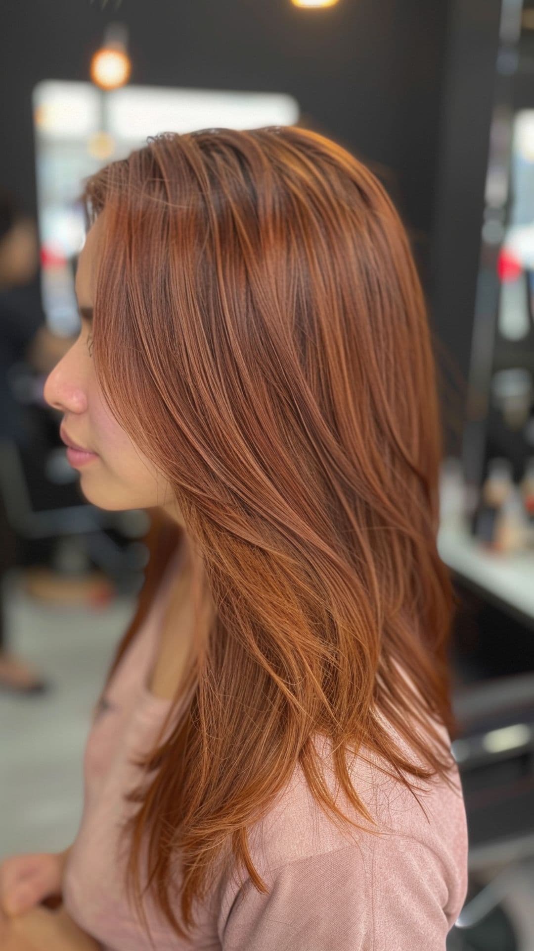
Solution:
M2 951L102 951L102 944L70 918L65 906L51 911L37 905L12 917L0 914Z

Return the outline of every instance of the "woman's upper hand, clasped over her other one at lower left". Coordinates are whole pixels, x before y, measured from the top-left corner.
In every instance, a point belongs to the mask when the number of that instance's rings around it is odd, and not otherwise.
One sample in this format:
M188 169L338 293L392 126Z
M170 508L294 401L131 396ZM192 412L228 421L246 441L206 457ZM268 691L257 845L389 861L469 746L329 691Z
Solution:
M0 904L8 915L28 911L44 900L61 901L64 852L29 852L13 855L0 864ZM56 902L56 903L57 903ZM51 902L54 906L53 901Z

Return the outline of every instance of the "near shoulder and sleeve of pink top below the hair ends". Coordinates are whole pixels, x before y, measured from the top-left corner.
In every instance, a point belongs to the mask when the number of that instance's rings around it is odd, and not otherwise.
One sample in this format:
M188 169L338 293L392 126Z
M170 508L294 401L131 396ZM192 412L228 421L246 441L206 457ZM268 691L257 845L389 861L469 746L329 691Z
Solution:
M467 894L467 820L457 768L452 788L437 779L414 780L423 811L372 756L356 757L350 774L373 825L335 785L328 742L318 748L336 804L363 828L334 825L296 768L277 804L249 834L268 894L246 875L244 882L233 877L224 884L224 951L268 951L290 938L292 951L445 948ZM379 835L367 831L372 828Z

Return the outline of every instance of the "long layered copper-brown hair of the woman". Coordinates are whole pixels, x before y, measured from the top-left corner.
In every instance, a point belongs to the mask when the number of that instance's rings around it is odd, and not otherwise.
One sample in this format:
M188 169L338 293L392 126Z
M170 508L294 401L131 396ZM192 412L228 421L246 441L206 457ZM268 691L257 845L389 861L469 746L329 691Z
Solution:
M415 779L451 782L436 728L458 735L456 602L436 548L439 371L399 214L372 170L317 132L163 133L87 179L82 198L87 223L103 210L106 222L95 373L198 554L195 650L167 739L138 760L139 808L123 829L144 924L150 887L185 936L218 862L267 891L248 832L296 768L355 828L358 816L377 824L348 752L374 757L418 802ZM182 533L153 518L103 694ZM321 737L351 815L325 780Z

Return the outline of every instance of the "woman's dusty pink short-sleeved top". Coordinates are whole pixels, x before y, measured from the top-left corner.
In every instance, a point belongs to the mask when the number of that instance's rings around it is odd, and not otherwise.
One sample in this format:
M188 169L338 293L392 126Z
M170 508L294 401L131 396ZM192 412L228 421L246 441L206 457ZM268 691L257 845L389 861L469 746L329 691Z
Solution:
M122 802L139 778L128 756L151 746L170 704L146 684L176 564L169 563L86 741L84 810L67 861L64 901L104 951L151 947L126 902L124 865L115 864L114 845L117 821L126 807L135 809ZM455 791L428 784L417 792L428 820L408 790L360 757L352 775L384 835L354 829L353 839L344 836L315 805L298 768L249 837L269 894L258 893L248 878L240 887L237 875L221 875L209 898L193 906L200 922L193 943L181 941L145 899L156 949L445 951L467 895L467 821L457 771ZM347 811L345 801L338 802ZM181 920L179 900L175 914Z

